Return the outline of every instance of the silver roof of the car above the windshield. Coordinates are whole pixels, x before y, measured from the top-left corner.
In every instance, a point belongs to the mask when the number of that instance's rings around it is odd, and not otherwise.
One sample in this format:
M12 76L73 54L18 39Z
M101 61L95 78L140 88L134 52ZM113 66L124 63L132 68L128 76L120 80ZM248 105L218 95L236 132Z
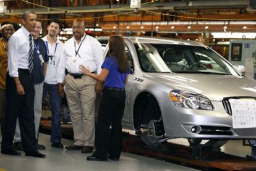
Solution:
M101 36L100 38L108 38L109 36ZM204 44L198 43L196 41L188 40L178 40L173 38L160 38L160 37L150 37L150 36L124 36L124 38L129 39L132 43L137 43L136 40L139 40L140 43L151 43L151 44L184 44L189 46L202 46L206 47Z

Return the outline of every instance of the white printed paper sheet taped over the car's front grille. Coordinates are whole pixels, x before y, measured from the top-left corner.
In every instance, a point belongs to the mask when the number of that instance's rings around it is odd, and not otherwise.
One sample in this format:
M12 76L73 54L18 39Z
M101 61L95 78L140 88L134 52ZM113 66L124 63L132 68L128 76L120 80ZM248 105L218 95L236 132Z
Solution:
M256 128L255 99L229 99L233 128Z

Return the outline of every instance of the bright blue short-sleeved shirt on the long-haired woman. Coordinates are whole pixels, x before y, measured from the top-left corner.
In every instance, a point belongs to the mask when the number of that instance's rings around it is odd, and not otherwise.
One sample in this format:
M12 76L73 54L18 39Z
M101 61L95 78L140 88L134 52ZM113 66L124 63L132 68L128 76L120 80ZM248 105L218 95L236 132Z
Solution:
M106 77L105 86L124 88L128 71L126 73L119 72L117 60L114 57L106 57L101 68L109 71L108 76Z

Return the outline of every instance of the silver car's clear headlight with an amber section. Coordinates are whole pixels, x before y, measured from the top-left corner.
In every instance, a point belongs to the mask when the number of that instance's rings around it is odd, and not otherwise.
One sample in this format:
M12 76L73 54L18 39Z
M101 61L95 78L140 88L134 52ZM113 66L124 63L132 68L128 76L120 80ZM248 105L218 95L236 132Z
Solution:
M171 104L176 107L184 107L187 109L201 109L201 110L213 110L211 101L196 93L190 93L187 91L173 90L169 93Z

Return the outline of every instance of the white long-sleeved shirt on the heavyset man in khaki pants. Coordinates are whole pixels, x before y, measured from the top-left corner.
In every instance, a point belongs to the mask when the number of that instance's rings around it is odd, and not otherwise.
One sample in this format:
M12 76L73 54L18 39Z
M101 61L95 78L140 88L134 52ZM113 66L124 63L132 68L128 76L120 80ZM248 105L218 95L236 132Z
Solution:
M83 38L85 40L83 41ZM81 44L82 43L82 44ZM81 47L79 49L79 46ZM75 51L79 52L75 56ZM65 44L62 52L61 62L59 62L57 80L63 83L65 78L65 69L69 73L81 73L79 65L89 67L90 72L100 74L101 65L103 64L103 50L100 42L89 35L83 35L79 44L75 41L74 36Z

